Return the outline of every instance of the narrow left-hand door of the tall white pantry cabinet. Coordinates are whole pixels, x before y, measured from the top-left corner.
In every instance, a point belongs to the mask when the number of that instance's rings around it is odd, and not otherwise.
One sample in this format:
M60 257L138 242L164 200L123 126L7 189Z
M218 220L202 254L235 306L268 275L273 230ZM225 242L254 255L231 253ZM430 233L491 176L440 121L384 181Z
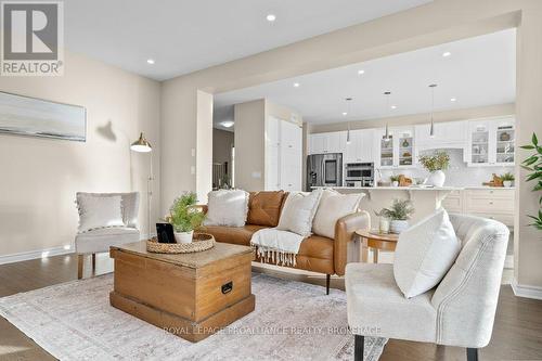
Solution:
M266 191L281 189L280 180L280 123L274 117L266 119Z

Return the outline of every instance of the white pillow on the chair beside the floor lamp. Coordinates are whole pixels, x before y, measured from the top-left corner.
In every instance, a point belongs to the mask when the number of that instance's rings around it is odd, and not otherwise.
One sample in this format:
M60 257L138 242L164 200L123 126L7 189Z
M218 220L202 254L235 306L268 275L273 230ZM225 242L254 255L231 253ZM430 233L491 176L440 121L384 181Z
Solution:
M107 227L125 227L120 195L77 194L79 232Z

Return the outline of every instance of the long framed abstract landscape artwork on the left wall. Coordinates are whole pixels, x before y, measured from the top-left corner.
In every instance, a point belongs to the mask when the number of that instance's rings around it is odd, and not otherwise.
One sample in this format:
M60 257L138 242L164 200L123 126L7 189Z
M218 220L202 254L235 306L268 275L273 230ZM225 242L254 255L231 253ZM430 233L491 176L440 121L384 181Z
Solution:
M0 92L0 133L85 142L87 109L79 105Z

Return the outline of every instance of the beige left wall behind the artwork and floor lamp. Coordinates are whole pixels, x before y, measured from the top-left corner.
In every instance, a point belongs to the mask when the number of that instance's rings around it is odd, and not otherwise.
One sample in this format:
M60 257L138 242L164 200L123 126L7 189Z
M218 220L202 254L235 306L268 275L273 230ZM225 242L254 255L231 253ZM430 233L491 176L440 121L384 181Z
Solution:
M65 64L62 77L0 78L0 91L87 108L85 143L0 134L0 260L72 244L78 191L139 191L146 232L150 155L129 150L140 131L154 149L158 215L160 85L70 52Z

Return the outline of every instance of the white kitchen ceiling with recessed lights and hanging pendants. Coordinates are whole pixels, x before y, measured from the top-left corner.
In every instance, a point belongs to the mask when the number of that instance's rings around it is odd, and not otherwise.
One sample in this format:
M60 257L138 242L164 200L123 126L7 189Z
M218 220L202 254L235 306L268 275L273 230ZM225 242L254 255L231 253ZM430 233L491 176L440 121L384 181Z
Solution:
M508 29L340 68L308 74L215 96L219 124L232 117L231 104L267 98L289 106L311 124L374 119L435 109L468 108L515 101L516 38ZM451 55L443 57L444 52ZM363 69L363 75L358 70ZM299 87L293 87L298 82ZM385 91L391 91L386 106ZM351 96L348 112L345 98ZM455 98L455 102L450 100Z

